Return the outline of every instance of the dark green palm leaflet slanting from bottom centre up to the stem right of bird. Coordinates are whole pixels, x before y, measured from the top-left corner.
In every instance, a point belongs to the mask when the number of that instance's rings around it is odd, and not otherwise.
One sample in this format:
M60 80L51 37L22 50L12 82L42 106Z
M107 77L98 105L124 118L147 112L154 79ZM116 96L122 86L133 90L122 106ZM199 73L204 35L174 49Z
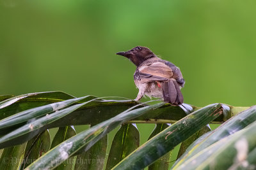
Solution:
M223 104L211 104L191 113L147 141L113 169L142 169L147 167L172 150L174 146L189 138L216 117L227 114L228 111L230 109Z

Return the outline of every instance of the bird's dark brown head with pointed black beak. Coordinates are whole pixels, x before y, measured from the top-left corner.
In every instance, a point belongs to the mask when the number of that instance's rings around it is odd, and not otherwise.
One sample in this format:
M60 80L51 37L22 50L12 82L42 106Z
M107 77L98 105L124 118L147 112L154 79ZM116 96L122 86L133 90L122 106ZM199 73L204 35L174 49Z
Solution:
M130 59L136 66L140 66L140 64L152 57L156 57L156 55L149 50L149 48L145 46L136 46L127 52L118 52L117 55L122 55Z

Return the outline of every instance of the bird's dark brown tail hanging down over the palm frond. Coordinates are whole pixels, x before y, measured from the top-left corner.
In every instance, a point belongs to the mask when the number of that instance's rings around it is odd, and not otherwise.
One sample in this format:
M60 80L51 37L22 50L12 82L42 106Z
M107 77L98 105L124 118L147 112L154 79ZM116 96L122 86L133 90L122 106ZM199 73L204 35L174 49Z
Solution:
M163 83L163 97L165 102L173 105L183 103L183 96L175 79Z

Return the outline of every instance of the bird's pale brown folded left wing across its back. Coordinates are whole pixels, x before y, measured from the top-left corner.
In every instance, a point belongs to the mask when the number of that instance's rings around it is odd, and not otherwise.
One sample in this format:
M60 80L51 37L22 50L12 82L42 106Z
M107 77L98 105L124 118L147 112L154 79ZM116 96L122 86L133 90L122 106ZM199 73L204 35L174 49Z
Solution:
M168 81L172 78L172 69L163 62L154 62L146 66L140 66L136 69L134 80L139 80L141 83L150 81Z

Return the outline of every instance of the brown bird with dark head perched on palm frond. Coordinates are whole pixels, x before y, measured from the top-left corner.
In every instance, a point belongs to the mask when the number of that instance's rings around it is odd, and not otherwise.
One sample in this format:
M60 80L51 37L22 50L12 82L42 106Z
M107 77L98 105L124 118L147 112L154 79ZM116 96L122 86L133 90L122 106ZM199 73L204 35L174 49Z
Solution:
M143 96L157 97L174 106L182 104L184 97L180 89L185 80L179 67L167 60L160 59L149 48L136 46L127 52L117 52L136 66L134 83L139 89L135 101Z

